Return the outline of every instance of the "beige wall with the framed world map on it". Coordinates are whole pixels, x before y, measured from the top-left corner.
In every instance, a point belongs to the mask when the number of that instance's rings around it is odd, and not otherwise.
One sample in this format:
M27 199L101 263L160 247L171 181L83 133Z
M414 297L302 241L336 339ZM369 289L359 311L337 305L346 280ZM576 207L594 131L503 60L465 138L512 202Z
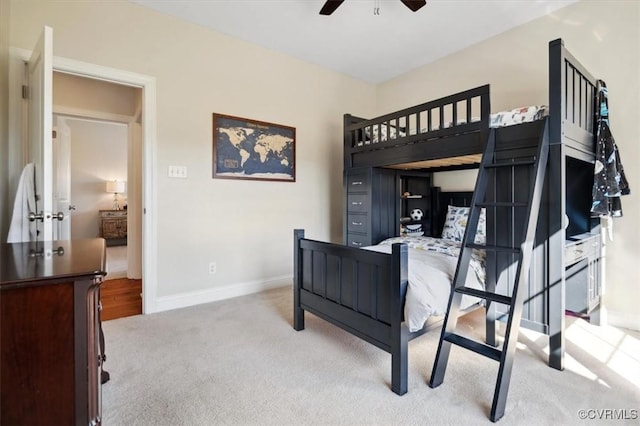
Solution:
M341 240L342 115L373 115L374 86L127 1L12 1L12 46L45 24L56 56L156 78L159 297L289 283L294 227ZM213 112L296 127L296 182L212 179Z

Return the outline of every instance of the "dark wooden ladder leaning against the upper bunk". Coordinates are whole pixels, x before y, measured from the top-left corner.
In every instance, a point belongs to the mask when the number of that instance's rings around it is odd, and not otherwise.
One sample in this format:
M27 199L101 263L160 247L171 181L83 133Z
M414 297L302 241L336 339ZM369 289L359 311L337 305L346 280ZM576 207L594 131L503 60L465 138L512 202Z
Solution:
M485 152L482 157L478 178L476 179L476 188L471 200L471 208L467 219L467 227L462 241L458 265L454 276L453 291L449 297L449 307L445 316L445 322L440 335L438 351L433 365L431 380L429 386L435 388L442 384L444 374L447 368L449 352L451 344L469 349L485 357L491 358L500 363L498 370L498 378L496 388L493 395L493 405L491 407L490 419L493 422L498 421L503 415L507 401L507 393L509 391L509 381L511 379L511 368L515 357L516 343L518 340L518 331L520 329L520 319L522 316L522 305L524 302L524 294L529 279L529 266L531 264L531 255L536 233L536 224L538 220L538 212L540 210L540 201L542 198L542 189L544 185L544 176L547 165L547 157L549 152L548 139L548 119L545 119L541 126L542 132L538 139L537 147L533 148L528 156L518 158L500 159L496 151L496 131L491 129ZM523 170L528 168L529 170ZM514 201L514 191L511 191L509 200L499 200L499 191L496 191L491 202L486 202L485 195L487 187L495 185L500 179L516 181L517 176L527 176L527 182L522 187L518 187L518 194L525 194L520 197L523 201ZM514 186L515 187L515 186ZM528 195L526 192L528 190ZM507 191L509 192L509 191ZM475 243L478 221L481 210L493 209L494 217L497 217L498 210L500 212L507 211L511 217L516 212L523 217L519 226L513 221L512 231L509 236L509 244L488 245ZM518 209L523 209L519 210ZM488 213L488 211L487 211ZM489 217L489 216L488 216ZM503 216L501 216L503 217ZM497 224L496 224L497 225ZM504 226L504 225L503 225ZM495 239L495 237L494 237ZM476 290L465 287L467 272L469 270L469 262L471 260L472 250L485 250L487 255L494 252L496 255L511 253L513 254L515 274L511 275L513 288L511 295L498 294L496 292ZM473 273L473 272L472 272ZM524 290L518 291L520 284L524 284ZM511 284L511 283L510 283ZM496 285L489 285L486 288L495 289ZM491 303L499 303L509 306L506 314L507 328L505 331L502 349L487 345L484 342L476 341L455 333L458 314L460 312L460 303L463 295L475 296L486 300L486 308L489 309Z

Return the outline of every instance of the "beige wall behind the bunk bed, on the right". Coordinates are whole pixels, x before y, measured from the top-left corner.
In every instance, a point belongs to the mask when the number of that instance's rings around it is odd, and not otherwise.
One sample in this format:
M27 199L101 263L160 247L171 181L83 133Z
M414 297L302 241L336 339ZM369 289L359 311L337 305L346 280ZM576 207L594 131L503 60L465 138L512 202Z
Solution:
M609 318L640 329L640 2L581 1L511 31L416 69L378 87L379 113L449 93L491 84L494 112L548 103L548 42L565 46L607 83L612 130L632 194L607 245L606 306ZM473 188L474 174L440 175L445 189Z

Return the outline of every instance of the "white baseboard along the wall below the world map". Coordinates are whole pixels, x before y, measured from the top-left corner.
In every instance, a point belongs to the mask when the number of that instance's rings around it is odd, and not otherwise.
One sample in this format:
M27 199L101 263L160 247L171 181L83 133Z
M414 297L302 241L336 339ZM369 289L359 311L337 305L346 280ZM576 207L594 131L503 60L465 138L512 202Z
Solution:
M270 278L264 281L251 281L225 287L212 288L209 290L159 297L156 299L155 312L187 308L189 306L201 305L203 303L231 299L232 297L246 296L248 294L258 293L272 288L291 286L292 282L293 277L289 275Z

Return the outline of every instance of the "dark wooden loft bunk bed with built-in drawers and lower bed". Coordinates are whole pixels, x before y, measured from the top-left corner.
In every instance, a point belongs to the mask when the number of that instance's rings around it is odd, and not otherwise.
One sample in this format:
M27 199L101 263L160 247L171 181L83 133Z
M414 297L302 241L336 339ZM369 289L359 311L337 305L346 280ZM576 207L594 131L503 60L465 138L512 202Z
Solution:
M308 311L389 352L391 388L404 394L408 341L430 328L427 322L411 332L404 322L408 247L393 244L390 254L361 248L398 236L406 214L398 200L406 195L409 177L419 176L429 187L433 171L478 167L490 131L505 159L528 152L547 132L549 159L521 326L549 336L549 365L563 369L565 310L598 321L599 223L589 214L595 84L558 39L549 43L549 108L542 120L490 130L496 117L490 114L489 86L370 120L346 114L345 244L306 239L304 231L294 231L294 329L304 329ZM504 182L493 191L514 194L517 186ZM442 199L437 191L424 192L423 206L429 210L424 232L439 236ZM504 238L498 224L517 221L487 214L488 242ZM499 289L508 263L487 256L487 282ZM497 322L504 315L496 304L487 307L487 343L498 344Z

